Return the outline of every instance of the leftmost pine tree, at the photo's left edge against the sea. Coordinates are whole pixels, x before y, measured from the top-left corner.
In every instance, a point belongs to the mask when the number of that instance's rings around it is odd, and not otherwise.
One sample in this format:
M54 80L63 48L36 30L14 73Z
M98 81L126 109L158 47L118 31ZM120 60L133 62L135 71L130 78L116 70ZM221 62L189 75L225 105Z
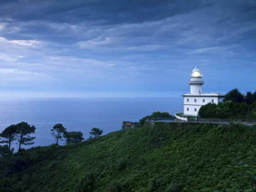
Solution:
M9 150L11 150L12 142L15 140L16 130L16 125L10 125L9 127L5 128L3 132L0 134L0 138L2 139L0 143L8 143Z

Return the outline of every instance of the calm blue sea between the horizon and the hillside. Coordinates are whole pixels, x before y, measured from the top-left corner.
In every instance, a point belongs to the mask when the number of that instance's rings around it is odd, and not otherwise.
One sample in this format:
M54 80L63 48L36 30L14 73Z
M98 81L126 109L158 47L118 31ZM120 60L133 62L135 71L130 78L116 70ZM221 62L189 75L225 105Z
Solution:
M0 132L22 121L35 125L35 143L22 146L30 148L55 143L51 128L57 123L67 131L81 131L86 140L93 127L102 129L104 135L121 130L122 121L138 122L154 111L173 115L182 109L183 99L171 97L5 99L0 100ZM15 143L12 147L17 149Z

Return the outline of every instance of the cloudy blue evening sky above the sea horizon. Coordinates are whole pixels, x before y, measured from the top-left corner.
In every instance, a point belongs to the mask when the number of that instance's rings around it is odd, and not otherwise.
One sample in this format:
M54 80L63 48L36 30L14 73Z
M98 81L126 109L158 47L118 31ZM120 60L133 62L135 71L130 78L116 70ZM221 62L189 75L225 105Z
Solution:
M256 90L256 0L0 0L0 96Z

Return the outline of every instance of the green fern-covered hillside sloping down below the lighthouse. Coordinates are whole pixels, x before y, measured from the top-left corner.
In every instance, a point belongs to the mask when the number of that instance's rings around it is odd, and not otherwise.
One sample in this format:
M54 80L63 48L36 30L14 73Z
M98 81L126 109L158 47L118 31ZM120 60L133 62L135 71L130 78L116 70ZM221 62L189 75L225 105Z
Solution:
M255 138L256 126L145 123L75 145L31 148L8 166L2 157L0 191L249 192L256 189Z

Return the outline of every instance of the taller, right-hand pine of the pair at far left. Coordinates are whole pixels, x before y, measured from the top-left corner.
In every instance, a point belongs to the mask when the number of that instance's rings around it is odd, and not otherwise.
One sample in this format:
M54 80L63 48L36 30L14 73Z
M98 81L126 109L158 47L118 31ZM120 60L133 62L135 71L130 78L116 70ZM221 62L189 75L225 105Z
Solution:
M31 137L30 135L35 133L35 126L30 126L27 122L20 122L16 126L16 139L19 143L18 151L20 151L21 145L33 145L35 137Z

